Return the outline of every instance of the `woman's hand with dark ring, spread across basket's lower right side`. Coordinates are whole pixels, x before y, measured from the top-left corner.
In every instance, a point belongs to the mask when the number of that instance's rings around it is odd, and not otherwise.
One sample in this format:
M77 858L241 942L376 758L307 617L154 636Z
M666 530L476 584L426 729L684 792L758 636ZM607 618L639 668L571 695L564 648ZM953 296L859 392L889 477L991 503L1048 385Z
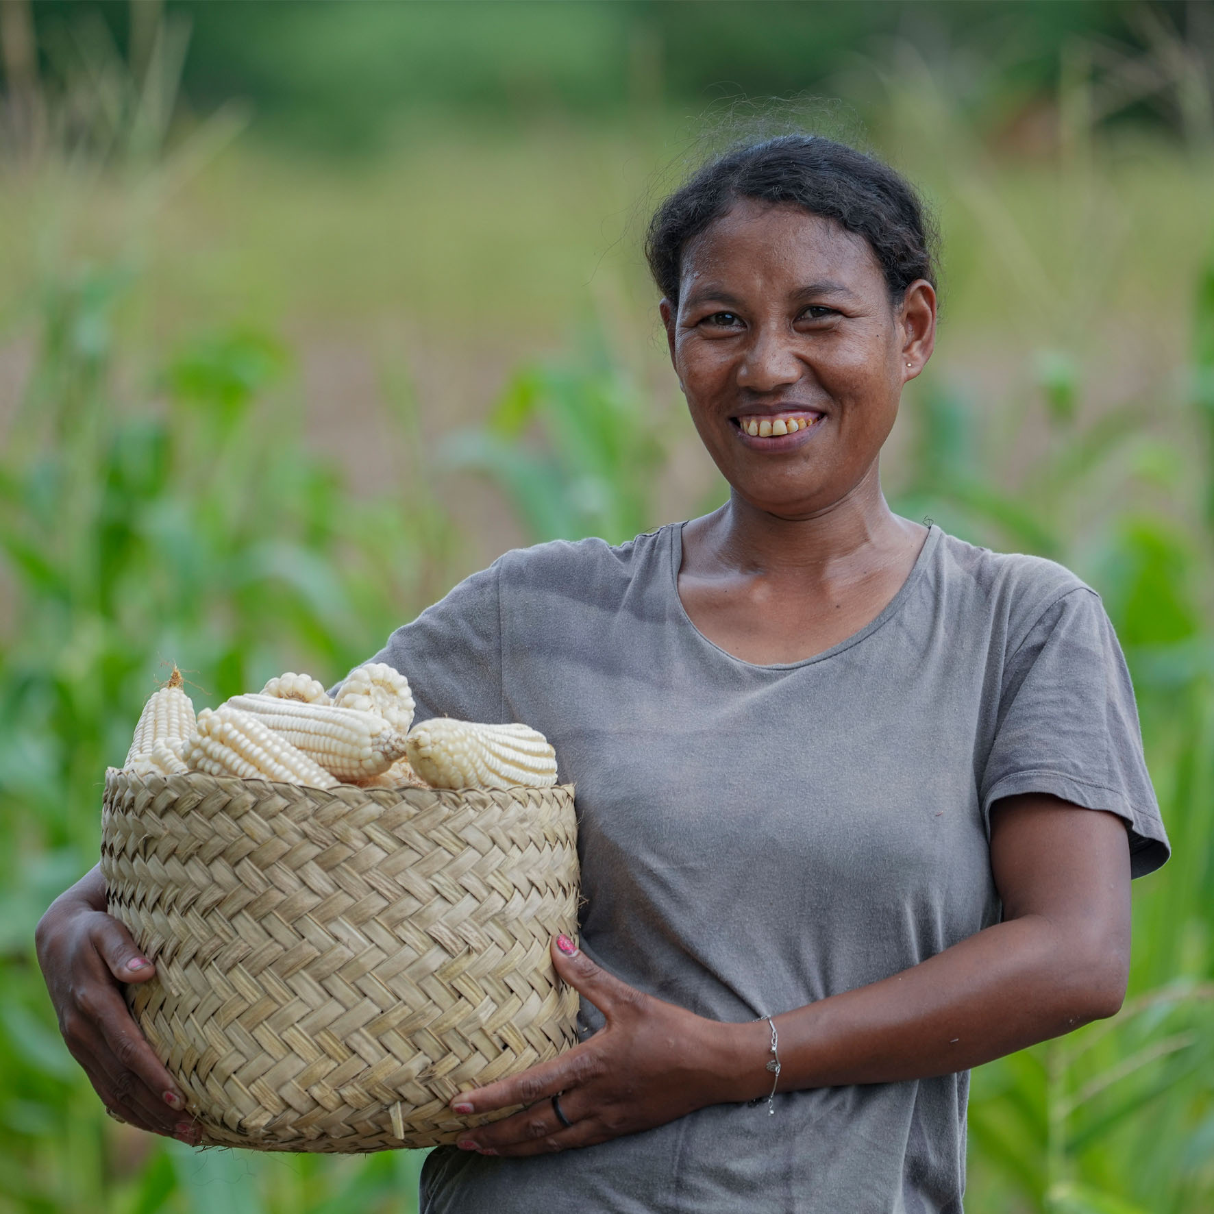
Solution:
M455 1096L463 1116L511 1105L522 1112L470 1129L458 1142L482 1155L546 1155L664 1125L705 1105L747 1099L734 1078L736 1034L754 1026L705 1020L600 969L567 936L552 942L556 972L606 1017L590 1040L509 1079ZM762 1025L766 1031L766 1025ZM764 1074L755 1038L756 1082ZM560 1095L557 1116L552 1097Z

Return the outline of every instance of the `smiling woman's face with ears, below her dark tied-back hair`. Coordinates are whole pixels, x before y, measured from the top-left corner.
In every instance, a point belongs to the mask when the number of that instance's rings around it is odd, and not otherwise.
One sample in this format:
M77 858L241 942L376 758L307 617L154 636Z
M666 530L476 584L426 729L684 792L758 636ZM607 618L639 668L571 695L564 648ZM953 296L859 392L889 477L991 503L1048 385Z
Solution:
M795 206L739 202L683 250L670 357L734 492L783 518L875 483L902 385L935 337L936 297L890 302L863 237Z

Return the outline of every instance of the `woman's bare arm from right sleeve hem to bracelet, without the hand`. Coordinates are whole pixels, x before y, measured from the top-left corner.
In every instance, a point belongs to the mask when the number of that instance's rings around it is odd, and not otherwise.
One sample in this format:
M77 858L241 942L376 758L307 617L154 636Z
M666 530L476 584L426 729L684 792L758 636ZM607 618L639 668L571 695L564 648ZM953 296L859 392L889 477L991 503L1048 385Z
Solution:
M1003 923L776 1017L782 1088L949 1074L1117 1012L1130 959L1121 818L1053 796L1008 798L991 818L991 867Z

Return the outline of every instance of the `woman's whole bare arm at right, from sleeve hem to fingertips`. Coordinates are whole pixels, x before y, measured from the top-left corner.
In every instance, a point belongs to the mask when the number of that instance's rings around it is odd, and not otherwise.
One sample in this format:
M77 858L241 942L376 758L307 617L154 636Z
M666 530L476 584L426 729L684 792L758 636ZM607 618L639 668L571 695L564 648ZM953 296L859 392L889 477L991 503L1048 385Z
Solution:
M1002 923L892 977L776 1017L779 1090L964 1071L1118 1010L1130 951L1122 821L1044 794L1008 798L992 813L991 864ZM625 986L580 952L557 947L554 958L607 1026L552 1062L455 1097L459 1113L537 1102L470 1130L465 1148L588 1146L771 1090L766 1021L709 1021ZM569 1128L545 1099L555 1093Z

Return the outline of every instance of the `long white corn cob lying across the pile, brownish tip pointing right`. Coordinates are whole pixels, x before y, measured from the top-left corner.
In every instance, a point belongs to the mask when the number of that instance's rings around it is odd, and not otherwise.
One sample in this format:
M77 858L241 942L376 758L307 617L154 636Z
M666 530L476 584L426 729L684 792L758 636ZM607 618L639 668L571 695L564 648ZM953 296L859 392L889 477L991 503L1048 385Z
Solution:
M337 779L368 779L404 756L404 734L379 713L272 696L233 696L227 703L255 716Z

